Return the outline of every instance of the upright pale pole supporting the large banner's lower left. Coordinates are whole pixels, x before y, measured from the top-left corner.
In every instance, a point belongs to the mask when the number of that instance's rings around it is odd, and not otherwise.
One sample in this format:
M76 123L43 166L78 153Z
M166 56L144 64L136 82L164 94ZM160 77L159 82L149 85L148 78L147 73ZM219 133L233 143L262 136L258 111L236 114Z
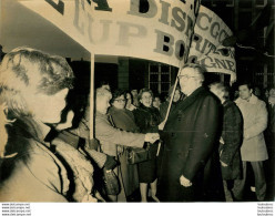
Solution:
M94 53L91 53L91 74L90 74L90 140L94 138Z

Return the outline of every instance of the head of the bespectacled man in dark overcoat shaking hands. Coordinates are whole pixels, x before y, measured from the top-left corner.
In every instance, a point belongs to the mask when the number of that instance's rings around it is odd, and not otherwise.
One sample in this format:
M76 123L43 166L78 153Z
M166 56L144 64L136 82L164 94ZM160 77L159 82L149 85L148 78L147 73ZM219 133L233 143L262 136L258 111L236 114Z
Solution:
M190 95L194 90L202 85L202 79L193 68L184 68L177 78L181 90L186 95Z

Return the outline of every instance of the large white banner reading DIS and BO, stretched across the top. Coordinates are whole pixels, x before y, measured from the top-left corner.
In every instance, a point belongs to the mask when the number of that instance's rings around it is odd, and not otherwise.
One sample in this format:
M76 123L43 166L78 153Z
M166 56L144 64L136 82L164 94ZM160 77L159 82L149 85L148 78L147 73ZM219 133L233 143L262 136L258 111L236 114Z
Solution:
M124 55L180 66L194 28L197 0L19 0L94 54Z

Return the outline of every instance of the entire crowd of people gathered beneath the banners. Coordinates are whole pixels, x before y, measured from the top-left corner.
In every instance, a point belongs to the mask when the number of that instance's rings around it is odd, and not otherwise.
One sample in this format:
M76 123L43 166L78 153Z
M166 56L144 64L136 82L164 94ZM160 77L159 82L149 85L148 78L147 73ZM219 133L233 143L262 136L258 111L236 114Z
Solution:
M247 186L266 200L275 89L263 101L240 82L233 101L224 83L203 85L205 72L186 63L164 102L150 89L104 84L75 110L63 58L12 50L0 65L0 200L129 202L140 192L132 200L235 202L245 200ZM147 160L130 164L133 148L146 150ZM118 177L118 194L104 191L103 168Z

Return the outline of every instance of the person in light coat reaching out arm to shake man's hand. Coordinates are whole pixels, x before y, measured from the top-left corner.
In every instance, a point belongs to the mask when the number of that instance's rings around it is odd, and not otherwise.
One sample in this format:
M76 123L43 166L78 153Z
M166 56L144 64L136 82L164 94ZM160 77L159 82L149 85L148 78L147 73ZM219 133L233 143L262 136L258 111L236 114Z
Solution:
M106 89L100 88L95 95L95 138L100 141L102 152L109 156L116 157L119 154L118 145L143 147L144 142L154 143L160 138L159 133L132 133L114 127L113 120L108 113L112 94ZM115 174L119 174L120 165L114 168ZM120 175L119 175L120 178ZM122 181L122 178L120 178ZM121 187L120 202L125 202L125 194ZM124 197L123 197L124 196ZM118 202L118 195L109 195L110 200Z

